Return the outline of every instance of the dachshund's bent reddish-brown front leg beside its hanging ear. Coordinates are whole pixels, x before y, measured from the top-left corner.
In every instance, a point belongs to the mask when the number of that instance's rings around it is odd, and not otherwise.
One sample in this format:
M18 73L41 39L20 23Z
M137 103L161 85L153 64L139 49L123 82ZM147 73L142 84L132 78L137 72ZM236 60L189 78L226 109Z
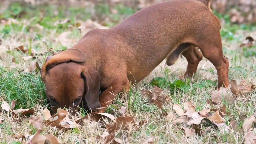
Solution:
M99 101L101 104L101 109L99 110L100 113L104 112L108 105L110 105L117 94L120 92L129 90L130 82L127 82L119 85L114 85L108 87L99 97Z

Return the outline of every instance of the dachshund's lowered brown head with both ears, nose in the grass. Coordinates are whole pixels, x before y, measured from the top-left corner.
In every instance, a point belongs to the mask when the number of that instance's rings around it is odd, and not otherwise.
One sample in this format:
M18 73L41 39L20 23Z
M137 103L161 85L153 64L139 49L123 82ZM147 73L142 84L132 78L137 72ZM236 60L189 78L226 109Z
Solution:
M53 113L58 108L78 110L82 102L92 111L101 107L99 73L84 63L86 55L74 48L46 57L41 79Z

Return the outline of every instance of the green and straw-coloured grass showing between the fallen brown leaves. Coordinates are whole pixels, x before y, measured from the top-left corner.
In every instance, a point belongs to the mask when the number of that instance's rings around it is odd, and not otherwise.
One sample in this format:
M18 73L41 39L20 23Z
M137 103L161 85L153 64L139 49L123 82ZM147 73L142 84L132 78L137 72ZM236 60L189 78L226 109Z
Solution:
M57 14L55 11L57 9ZM68 9L69 16L66 16L65 11ZM115 14L110 13L107 5L99 5L95 7L96 11L110 20L103 23L106 26L117 24L122 15L129 16L135 10L120 5L115 6L118 11ZM6 101L10 104L11 101L17 100L15 109L18 108L33 108L38 113L47 107L48 104L44 92L44 84L40 79L40 74L35 72L26 73L21 71L29 66L30 62L36 60L42 66L46 54L37 55L35 58L28 61L21 57L26 56L20 52L13 50L15 47L24 45L27 48L35 49L36 51L49 50L64 50L67 47L62 46L59 42L53 40L63 32L71 32L70 38L78 41L82 34L76 27L76 19L87 20L91 18L91 14L81 8L63 8L47 6L43 17L40 17L40 9L35 6L21 6L18 3L13 3L7 11L1 14L1 17L14 18L15 15L22 11L26 11L27 15L18 19L25 20L24 23L1 25L0 24L0 101ZM226 20L226 24L222 26L221 36L223 43L223 53L229 59L229 79L241 81L246 79L252 83L256 83L256 47L239 48L239 45L246 36L255 35L256 27L250 25L232 25L228 22L229 17L218 15L219 18ZM70 22L65 24L54 25L57 20L63 20L69 17ZM31 20L33 19L33 20ZM26 22L29 24L26 24ZM44 26L44 30L34 27L36 24ZM72 28L69 25L73 25ZM14 62L12 62L15 58ZM177 103L181 106L190 100L196 110L200 111L208 108L220 108L222 105L210 106L206 100L210 98L211 92L216 89L217 73L214 66L205 58L199 63L196 75L191 79L180 80L178 77L184 74L187 61L184 57L180 57L178 61L170 67L165 65L163 61L152 73L144 78L140 83L130 88L130 91L123 97L117 96L116 100L110 105L106 112L119 116L119 109L125 106L126 115L134 117L135 121L142 121L148 118L148 123L143 127L130 130L120 131L116 133L116 137L122 139L125 143L142 143L150 136L155 136L156 143L242 143L244 140L243 133L224 133L212 126L202 126L206 131L206 136L194 135L186 137L182 126L184 124L173 125L164 122L162 116L159 115L159 110L155 105L151 105L146 99L143 99L141 89L150 89L152 86L158 86L163 89L163 94L168 97L168 101L163 105L166 112L174 112L172 106ZM231 116L238 123L241 115L255 114L256 91L252 91L245 97L239 97L236 102L227 106ZM225 102L223 102L225 104ZM82 110L80 115L86 113ZM15 136L23 135L29 132L30 135L35 134L36 128L28 122L28 117L14 119L8 117L4 112L1 112L1 117L4 118L0 123L0 143L15 143ZM230 118L225 117L227 120ZM54 134L61 143L85 143L86 139L95 138L96 135L102 134L104 129L96 122L91 122L82 126L82 129L77 128L59 132L57 128L45 128L44 133Z

